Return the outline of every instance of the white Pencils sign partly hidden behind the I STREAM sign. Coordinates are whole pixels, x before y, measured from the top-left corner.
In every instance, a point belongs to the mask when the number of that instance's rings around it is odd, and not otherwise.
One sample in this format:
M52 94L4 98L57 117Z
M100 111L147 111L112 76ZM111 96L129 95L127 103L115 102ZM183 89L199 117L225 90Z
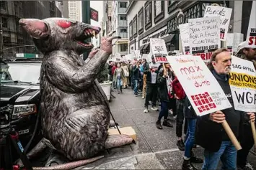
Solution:
M204 17L220 16L220 38L221 41L226 41L226 34L229 30L229 22L232 9L223 6L206 6Z

